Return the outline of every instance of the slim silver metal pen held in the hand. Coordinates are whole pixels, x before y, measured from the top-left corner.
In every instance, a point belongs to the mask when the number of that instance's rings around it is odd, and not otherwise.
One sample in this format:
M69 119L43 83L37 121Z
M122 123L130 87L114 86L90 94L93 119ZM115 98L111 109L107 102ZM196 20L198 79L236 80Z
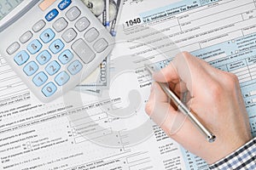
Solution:
M152 76L154 70L149 66L145 65L148 72ZM181 111L184 115L189 116L189 120L193 122L195 127L197 127L200 132L206 137L207 141L212 143L215 141L216 136L212 134L207 127L205 127L201 122L196 118L194 115L195 113L193 111L190 111L186 105L183 104L183 102L178 99L177 95L172 92L172 90L167 86L166 83L163 82L157 82L160 85L160 88L166 93L166 95L172 99L173 103L177 106L178 111Z

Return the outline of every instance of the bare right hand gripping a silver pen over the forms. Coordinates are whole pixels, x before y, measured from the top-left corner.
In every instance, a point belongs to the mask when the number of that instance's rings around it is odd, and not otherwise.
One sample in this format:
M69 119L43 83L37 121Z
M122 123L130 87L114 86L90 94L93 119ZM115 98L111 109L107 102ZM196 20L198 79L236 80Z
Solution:
M177 54L166 68L155 72L153 78L157 82L168 82L181 98L186 92L187 106L217 139L213 143L207 142L155 82L146 112L169 137L207 163L220 160L252 139L239 82L234 74L213 68L183 52Z

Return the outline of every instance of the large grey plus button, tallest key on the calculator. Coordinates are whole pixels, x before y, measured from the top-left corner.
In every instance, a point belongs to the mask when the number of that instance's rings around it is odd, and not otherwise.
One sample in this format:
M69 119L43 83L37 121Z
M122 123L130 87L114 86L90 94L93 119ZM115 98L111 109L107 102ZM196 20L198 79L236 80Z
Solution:
M90 63L92 59L95 58L96 54L90 49L90 47L84 42L84 40L79 39L73 42L73 51L83 60L84 63Z

